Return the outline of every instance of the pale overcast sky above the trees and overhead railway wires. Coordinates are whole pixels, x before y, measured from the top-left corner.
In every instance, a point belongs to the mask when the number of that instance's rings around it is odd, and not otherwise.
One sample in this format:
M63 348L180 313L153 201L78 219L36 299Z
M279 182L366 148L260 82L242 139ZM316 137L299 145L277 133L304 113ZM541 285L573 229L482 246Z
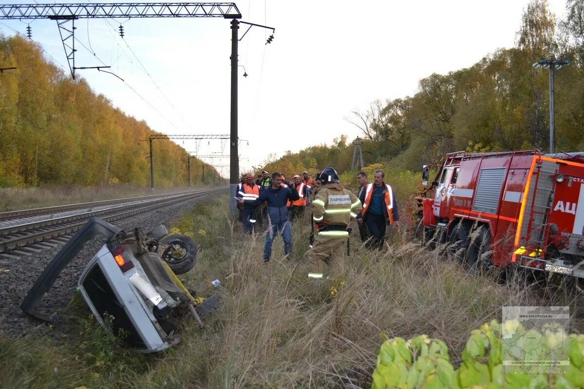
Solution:
M239 64L249 75L244 78L239 68L239 138L249 141L239 148L244 171L271 153L330 144L341 134L352 139L359 129L345 120L351 111L366 110L376 99L411 95L421 78L471 66L497 48L512 47L527 0L236 4L241 20L276 29L272 44L265 44L271 31L259 27L239 43ZM549 5L563 15L564 0ZM26 33L26 21L0 22L4 34ZM117 34L120 23L125 41ZM76 65L111 65L126 81L78 71L114 106L166 134L229 134L229 20L81 19L76 26ZM31 27L33 40L68 72L56 23L36 20ZM241 27L239 36L246 28ZM199 155L229 152L221 141L179 144L187 151L198 149ZM207 162L229 163L228 158ZM228 175L227 168L220 171Z

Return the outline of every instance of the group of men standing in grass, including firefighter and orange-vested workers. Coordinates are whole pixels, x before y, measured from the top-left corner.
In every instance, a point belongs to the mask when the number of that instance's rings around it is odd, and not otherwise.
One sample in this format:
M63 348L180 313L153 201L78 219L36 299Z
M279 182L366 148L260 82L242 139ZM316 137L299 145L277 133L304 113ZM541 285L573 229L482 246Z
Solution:
M248 174L246 182L238 188L238 206L244 210L244 221L249 220L253 224L257 222L255 213L259 206L267 203L263 261L268 262L277 233L284 240L284 254L292 251L288 211L290 219L297 218L311 204L316 229L308 251L308 277L323 278L328 267L328 276L336 278L339 276L339 260L349 239L349 224L353 219L359 223L361 240L371 249L383 247L385 227L395 225L399 220L394 191L384 182L384 177L384 171L378 169L374 171L374 182L369 183L367 174L360 171L357 173L360 188L355 195L340 184L339 176L332 167L319 172L316 180L312 180L305 171L303 177L294 176L293 183L284 181L280 173L269 177L269 173L264 171L257 182L253 180L253 174ZM252 227L245 225L245 229L249 231Z

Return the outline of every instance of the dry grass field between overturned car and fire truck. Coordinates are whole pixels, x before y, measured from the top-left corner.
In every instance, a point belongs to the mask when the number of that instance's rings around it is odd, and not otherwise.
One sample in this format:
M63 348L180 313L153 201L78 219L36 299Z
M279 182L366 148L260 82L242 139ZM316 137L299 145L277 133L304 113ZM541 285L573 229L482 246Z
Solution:
M0 387L368 388L387 338L442 339L456 365L470 331L500 320L502 306L553 303L576 310L573 301L581 300L526 281L468 275L439 250L405 243L397 232L381 253L365 250L353 234L343 285L309 282L308 218L294 225L290 259L282 259L277 238L272 261L263 264L263 234L242 234L226 208L226 196L201 202L173 226L201 247L196 267L183 277L187 285L199 295L221 294L219 309L203 318L204 330L187 320L178 346L140 355L95 325L77 297L67 331L0 339ZM214 279L221 279L219 288L211 286ZM571 332L582 332L582 313L572 312Z

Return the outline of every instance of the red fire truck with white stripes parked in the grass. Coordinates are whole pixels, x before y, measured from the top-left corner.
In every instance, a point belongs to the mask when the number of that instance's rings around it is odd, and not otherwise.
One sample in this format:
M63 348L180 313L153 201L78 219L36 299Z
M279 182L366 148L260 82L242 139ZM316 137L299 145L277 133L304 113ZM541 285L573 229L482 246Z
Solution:
M471 269L584 278L584 152L450 153L418 204L425 239Z

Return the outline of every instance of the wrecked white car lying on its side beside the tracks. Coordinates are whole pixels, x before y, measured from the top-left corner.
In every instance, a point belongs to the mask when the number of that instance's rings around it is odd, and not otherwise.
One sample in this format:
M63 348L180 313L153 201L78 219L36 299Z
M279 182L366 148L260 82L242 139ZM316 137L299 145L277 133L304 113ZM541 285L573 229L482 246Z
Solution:
M196 262L197 247L189 237L168 234L166 227L143 234L126 232L99 218L90 219L55 255L39 276L20 307L31 316L55 323L56 313L38 310L43 295L57 276L97 234L106 244L88 262L79 277L79 290L100 324L113 316L116 333L123 330L129 345L142 352L158 352L176 344L176 326L192 314L203 327L199 313L214 309L217 295L195 298L176 274Z

